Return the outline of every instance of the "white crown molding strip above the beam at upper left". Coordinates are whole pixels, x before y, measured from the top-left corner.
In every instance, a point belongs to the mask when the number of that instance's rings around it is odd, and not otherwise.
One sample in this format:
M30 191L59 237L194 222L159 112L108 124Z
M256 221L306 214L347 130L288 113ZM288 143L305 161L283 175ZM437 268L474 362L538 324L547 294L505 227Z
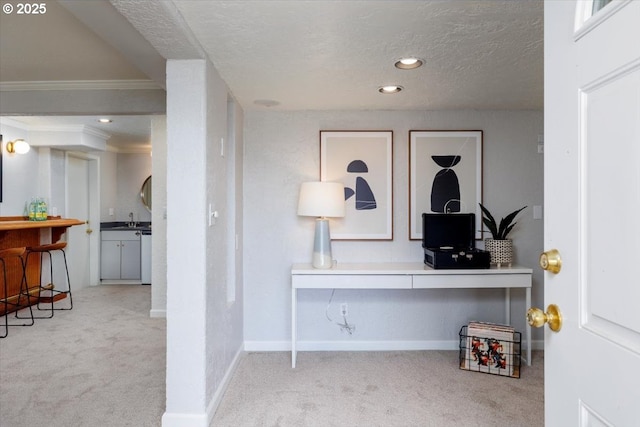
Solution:
M37 90L164 90L152 80L59 80L2 82L0 92Z

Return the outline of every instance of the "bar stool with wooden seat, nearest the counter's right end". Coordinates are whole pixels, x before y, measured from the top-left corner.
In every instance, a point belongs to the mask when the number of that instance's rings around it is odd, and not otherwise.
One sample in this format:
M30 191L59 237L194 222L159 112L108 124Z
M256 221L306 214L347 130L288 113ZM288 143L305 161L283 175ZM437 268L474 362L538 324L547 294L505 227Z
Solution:
M48 316L34 316L35 319L50 319L53 317L53 313L56 310L71 310L73 308L73 297L71 295L71 281L69 280L69 267L67 266L67 255L65 254L64 248L67 247L67 242L58 242L58 243L50 243L46 245L40 246L32 246L27 248L27 257L25 261L25 268L29 264L29 258L33 254L40 255L40 283L38 284L38 295L37 295L37 304L36 308L40 311L49 311ZM60 252L62 254L62 259L64 260L64 269L66 274L66 286L62 288L56 289L56 286L53 284L53 255L52 253ZM48 255L49 259L49 283L46 285L42 284L42 270L43 270L43 261L44 255ZM54 307L54 302L62 300L69 296L69 304L66 307ZM48 308L42 308L41 305L48 305Z

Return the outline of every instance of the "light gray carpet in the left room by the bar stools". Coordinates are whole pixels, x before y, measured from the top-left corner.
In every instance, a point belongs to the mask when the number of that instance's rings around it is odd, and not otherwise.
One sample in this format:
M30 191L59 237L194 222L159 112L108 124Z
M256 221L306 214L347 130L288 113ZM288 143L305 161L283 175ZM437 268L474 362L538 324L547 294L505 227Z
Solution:
M74 291L74 308L0 340L0 426L159 426L165 319L149 286Z

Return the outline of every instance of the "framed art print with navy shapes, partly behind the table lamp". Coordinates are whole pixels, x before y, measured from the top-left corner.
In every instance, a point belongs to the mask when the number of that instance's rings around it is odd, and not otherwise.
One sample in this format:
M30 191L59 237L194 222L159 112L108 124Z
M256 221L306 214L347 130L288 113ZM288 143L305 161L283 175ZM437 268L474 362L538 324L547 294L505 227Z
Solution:
M392 131L320 131L320 180L345 188L333 240L393 240Z

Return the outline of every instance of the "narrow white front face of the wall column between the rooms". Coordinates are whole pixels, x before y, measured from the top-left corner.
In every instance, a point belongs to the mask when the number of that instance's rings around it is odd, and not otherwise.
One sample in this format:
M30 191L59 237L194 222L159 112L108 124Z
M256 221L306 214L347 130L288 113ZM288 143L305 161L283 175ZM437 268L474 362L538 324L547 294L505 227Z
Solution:
M167 62L167 407L164 427L207 425L206 61ZM188 186L188 190L185 186Z

